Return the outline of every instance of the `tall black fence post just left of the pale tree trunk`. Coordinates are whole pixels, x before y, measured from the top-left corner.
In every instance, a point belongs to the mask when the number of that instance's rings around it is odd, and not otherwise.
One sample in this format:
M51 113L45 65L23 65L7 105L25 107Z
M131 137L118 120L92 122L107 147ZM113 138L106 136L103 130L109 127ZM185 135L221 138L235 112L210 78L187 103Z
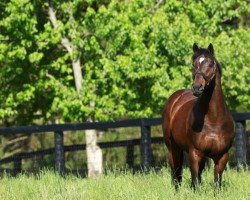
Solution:
M63 131L55 131L55 169L64 174Z

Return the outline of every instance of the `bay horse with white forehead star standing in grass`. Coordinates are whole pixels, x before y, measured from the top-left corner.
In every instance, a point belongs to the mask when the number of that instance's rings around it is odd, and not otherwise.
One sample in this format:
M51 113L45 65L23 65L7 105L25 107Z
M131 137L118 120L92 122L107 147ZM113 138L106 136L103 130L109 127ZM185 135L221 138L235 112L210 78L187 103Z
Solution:
M222 173L234 139L234 122L221 87L222 70L213 45L193 44L192 89L173 93L163 110L163 135L175 188L182 180L183 151L188 154L192 184L199 190L206 158L214 161L214 184L221 187Z

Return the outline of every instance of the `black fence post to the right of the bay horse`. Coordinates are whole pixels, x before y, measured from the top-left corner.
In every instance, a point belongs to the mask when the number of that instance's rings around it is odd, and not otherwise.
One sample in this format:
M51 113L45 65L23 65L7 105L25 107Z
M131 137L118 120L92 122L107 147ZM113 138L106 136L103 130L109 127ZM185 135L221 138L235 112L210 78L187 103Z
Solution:
M236 164L246 164L246 121L236 122L235 126Z

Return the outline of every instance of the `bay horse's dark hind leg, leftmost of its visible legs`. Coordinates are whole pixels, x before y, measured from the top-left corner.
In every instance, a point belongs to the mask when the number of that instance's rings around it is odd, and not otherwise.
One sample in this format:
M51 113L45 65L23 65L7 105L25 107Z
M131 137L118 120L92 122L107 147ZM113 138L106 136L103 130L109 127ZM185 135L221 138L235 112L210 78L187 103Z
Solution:
M175 189L178 189L182 181L183 150L170 139L166 141L168 147L168 160L172 170L172 179Z

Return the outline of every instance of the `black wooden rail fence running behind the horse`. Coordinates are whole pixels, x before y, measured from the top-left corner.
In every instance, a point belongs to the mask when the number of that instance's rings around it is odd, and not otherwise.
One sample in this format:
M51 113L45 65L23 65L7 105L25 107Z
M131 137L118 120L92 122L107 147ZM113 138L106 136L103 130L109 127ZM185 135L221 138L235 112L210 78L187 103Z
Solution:
M250 119L250 113L232 113L236 123L235 128L235 147L236 147L236 162L240 164L246 163L246 120ZM141 154L141 167L144 171L148 172L152 163L152 143L163 143L162 137L151 138L151 126L161 125L161 118L142 118L142 119L129 119L116 122L93 122L93 123L77 123L77 124L53 124L43 126L21 126L21 127L6 127L0 128L0 135L14 135L14 134L45 134L54 132L55 147L33 152L21 152L15 155L0 159L0 165L4 163L14 162L14 172L19 173L22 170L22 159L32 158L38 155L55 155L55 169L60 173L64 173L64 153L68 151L84 150L85 144L65 146L63 141L64 131L77 131L77 130L107 130L122 127L141 127L141 138L133 140L123 140L114 142L99 143L101 148L110 147L127 147L127 164L133 165L133 149L135 145L140 145Z

